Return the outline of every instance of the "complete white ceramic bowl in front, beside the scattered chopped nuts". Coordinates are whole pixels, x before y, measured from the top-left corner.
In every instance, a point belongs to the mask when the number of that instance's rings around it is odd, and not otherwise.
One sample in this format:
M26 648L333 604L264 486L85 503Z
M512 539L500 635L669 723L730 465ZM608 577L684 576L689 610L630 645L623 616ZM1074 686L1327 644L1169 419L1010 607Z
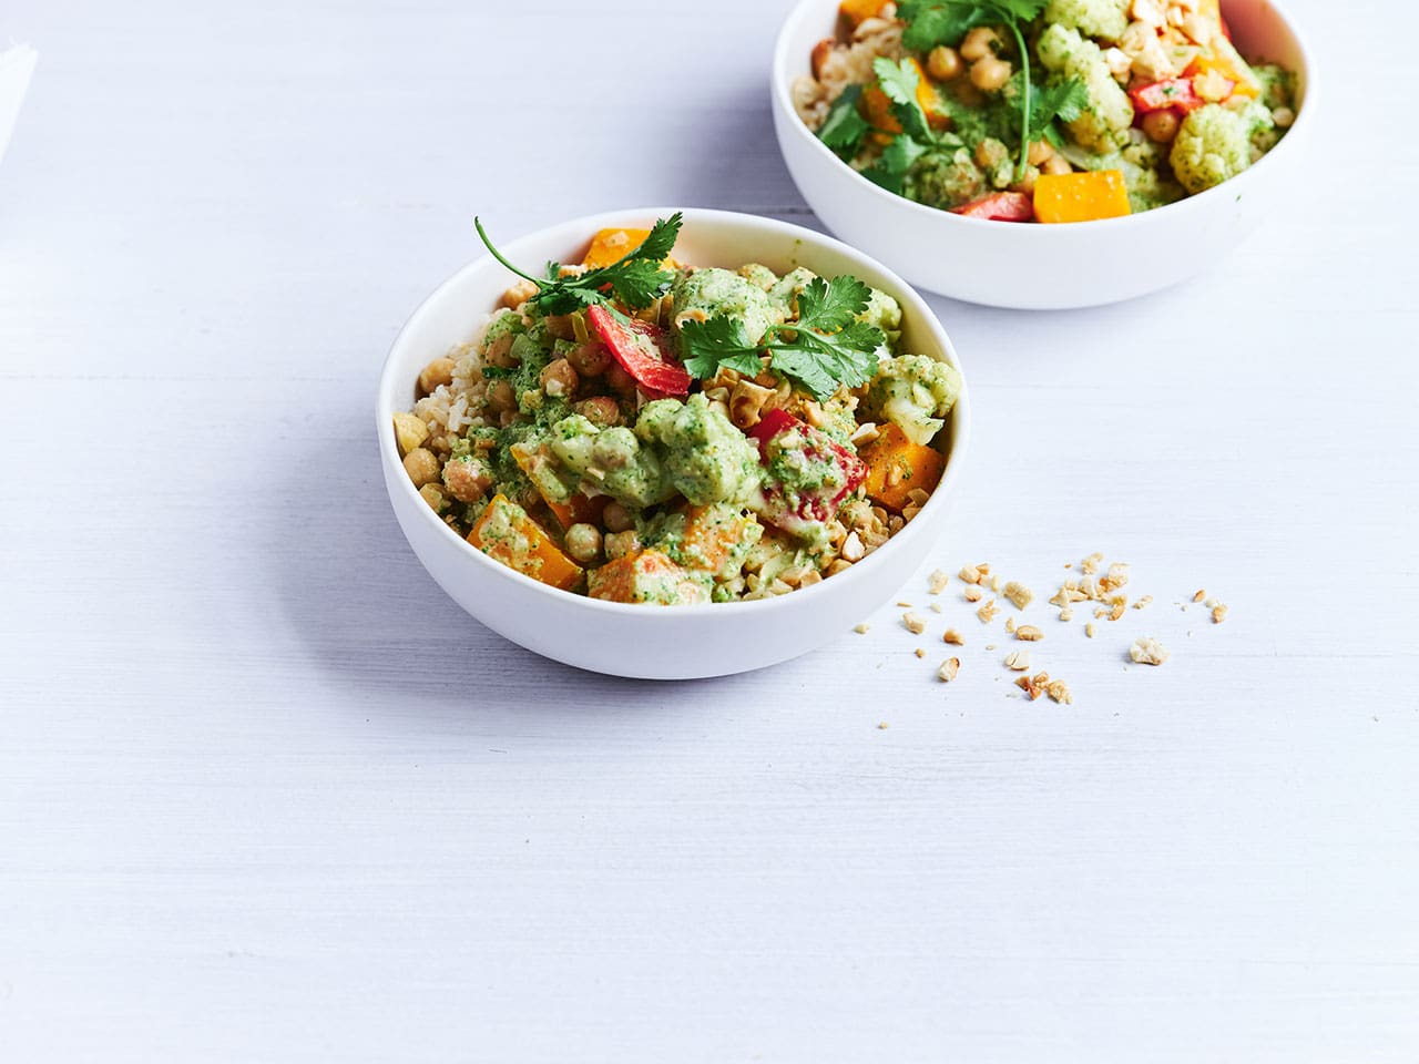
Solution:
M514 262L576 261L607 226L647 227L660 210L619 210L535 233L501 248ZM900 277L860 251L799 226L749 214L685 210L675 257L694 265L763 262L776 271L805 265L853 274L897 297L905 350L949 362L955 349L935 315ZM569 665L620 677L685 680L772 665L844 634L888 600L937 543L955 494L971 420L965 389L944 434L946 467L917 518L847 572L789 594L704 606L633 606L599 602L538 583L484 556L440 521L414 491L399 461L390 419L414 401L419 370L471 339L514 281L491 257L464 267L430 295L400 331L385 363L375 424L385 487L409 545L454 602L494 631Z

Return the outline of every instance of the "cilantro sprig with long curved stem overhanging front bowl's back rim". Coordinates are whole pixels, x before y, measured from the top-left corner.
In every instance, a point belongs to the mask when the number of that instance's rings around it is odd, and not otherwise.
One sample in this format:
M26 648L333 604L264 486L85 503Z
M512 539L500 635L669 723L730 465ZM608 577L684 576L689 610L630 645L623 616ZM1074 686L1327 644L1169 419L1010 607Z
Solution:
M542 314L572 314L596 304L610 305L607 294L633 311L650 306L674 284L674 272L666 270L661 262L675 247L683 223L684 216L680 211L668 218L658 218L646 240L609 265L587 270L580 275L562 277L562 264L548 262L545 277L532 277L504 258L484 231L482 221L473 220L478 238L488 253L524 281L538 287L538 294L528 302Z

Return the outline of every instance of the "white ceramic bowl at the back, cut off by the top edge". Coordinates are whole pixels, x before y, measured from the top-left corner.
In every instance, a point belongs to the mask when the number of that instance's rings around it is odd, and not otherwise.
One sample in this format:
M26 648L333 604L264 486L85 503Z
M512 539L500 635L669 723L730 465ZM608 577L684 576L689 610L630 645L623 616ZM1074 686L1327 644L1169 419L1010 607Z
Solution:
M779 31L772 84L779 149L803 199L833 233L922 288L1040 311L1144 295L1208 270L1261 220L1284 192L1283 182L1303 176L1297 160L1315 108L1305 51L1270 0L1222 0L1222 11L1243 55L1296 71L1297 121L1254 166L1158 210L1070 226L983 221L873 184L793 109L793 81L809 72L813 44L833 35L837 0L800 0Z

